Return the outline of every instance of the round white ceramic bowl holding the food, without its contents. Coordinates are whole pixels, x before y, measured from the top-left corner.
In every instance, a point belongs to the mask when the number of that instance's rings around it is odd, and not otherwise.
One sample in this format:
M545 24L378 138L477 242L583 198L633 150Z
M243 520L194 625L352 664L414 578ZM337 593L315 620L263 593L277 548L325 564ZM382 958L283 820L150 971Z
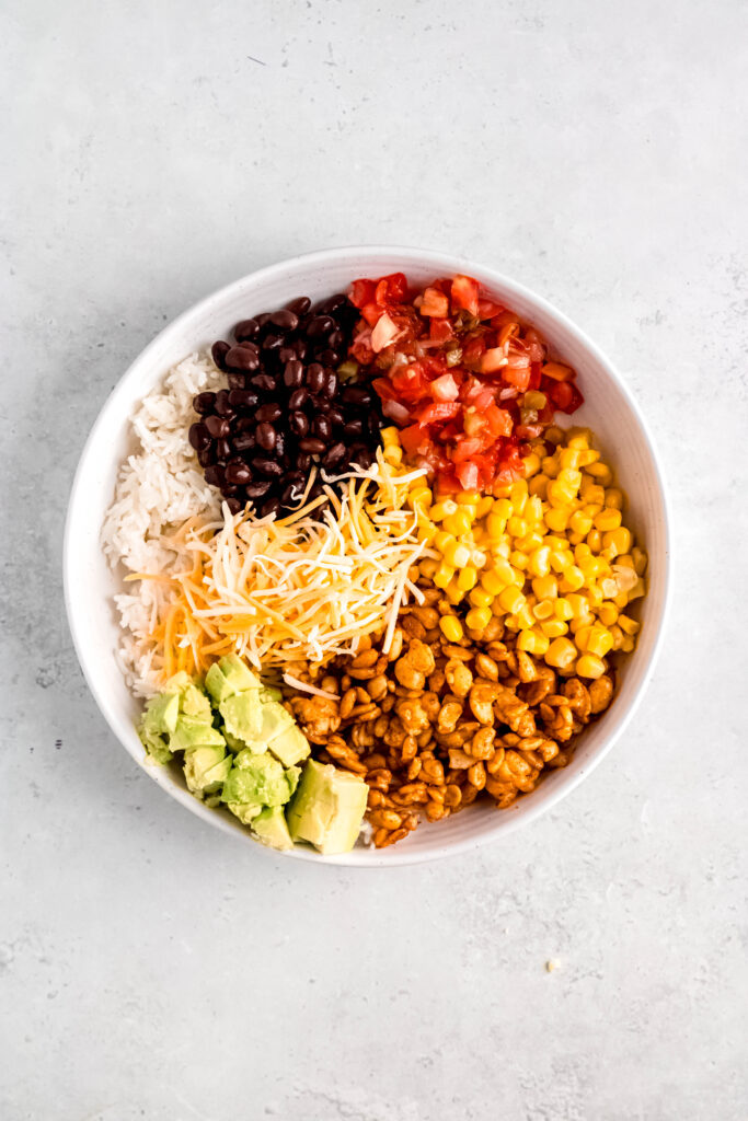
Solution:
M81 456L65 529L65 597L77 655L109 726L139 766L144 750L133 722L139 704L129 694L114 660L118 626L112 608L117 578L100 547L101 525L114 491L120 462L131 447L129 417L175 362L197 348L225 337L239 319L279 307L302 294L312 298L345 290L355 277L401 270L413 282L467 272L507 306L535 324L560 356L579 372L585 404L573 423L588 424L629 500L629 524L649 554L648 585L639 601L641 632L636 652L622 659L619 691L604 716L580 738L571 763L551 772L538 789L509 809L492 803L416 833L384 851L357 847L342 856L322 858L297 846L289 856L324 860L357 868L407 864L478 847L526 824L573 790L621 735L652 674L668 595L668 526L663 479L652 438L624 380L597 346L561 312L521 285L459 257L421 249L331 249L296 257L237 280L196 304L169 324L132 363L111 393ZM187 791L177 768L148 767L147 773L193 814L256 844L228 813L206 808ZM259 847L259 846L258 846Z

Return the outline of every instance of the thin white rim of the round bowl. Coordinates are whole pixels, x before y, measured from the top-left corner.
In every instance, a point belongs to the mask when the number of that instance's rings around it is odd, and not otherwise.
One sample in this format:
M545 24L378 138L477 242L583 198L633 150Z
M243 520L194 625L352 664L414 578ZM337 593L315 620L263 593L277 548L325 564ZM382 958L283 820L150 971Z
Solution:
M221 304L222 302L230 298L230 296L248 281L252 281L252 285L262 285L265 281L273 280L276 277L281 277L289 268L296 267L298 265L314 266L314 265L327 265L327 263L342 263L355 256L368 256L368 257L381 257L382 259L397 258L398 254L412 254L418 258L418 263L428 265L433 263L438 266L440 270L443 270L445 260L454 262L454 268L462 268L464 271L470 272L471 268L480 271L484 277L490 278L491 281L496 282L508 293L515 294L521 299L527 300L529 304L542 309L547 316L557 322L562 327L564 327L571 335L573 335L576 342L589 353L589 355L602 368L606 376L613 381L620 391L621 396L625 398L631 414L640 429L644 442L649 452L652 464L654 467L653 476L649 480L650 485L656 487L658 491L658 497L661 499L662 511L663 511L663 558L662 558L662 577L663 577L663 595L659 604L659 615L653 620L649 620L649 627L656 627L656 634L652 643L647 663L640 669L640 680L636 688L634 696L631 697L628 708L618 719L618 725L611 730L604 741L597 748L594 754L590 757L585 766L581 768L576 773L570 773L569 779L565 782L558 782L556 789L551 794L544 802L538 803L536 806L532 803L525 805L524 813L520 816L512 817L512 815L507 814L501 815L500 821L497 821L496 827L486 830L478 836L463 837L458 841L434 844L432 849L426 851L412 852L407 847L404 849L388 849L388 850L368 850L368 859L362 862L357 859L357 853L361 850L352 850L349 853L341 853L333 856L323 856L313 849L307 849L305 846L296 846L293 850L288 850L281 853L277 853L276 850L267 850L264 845L255 843L255 847L259 849L267 854L288 856L295 860L308 860L316 864L334 864L343 865L348 868L357 869L370 869L370 868L393 868L394 865L405 865L405 864L416 864L426 863L433 860L441 860L446 856L458 855L460 853L470 852L482 847L484 844L496 842L500 836L507 836L511 832L532 824L537 821L538 817L548 813L555 806L557 806L562 799L570 795L576 787L585 779L592 770L602 761L602 759L608 754L608 752L613 748L618 740L622 736L626 729L629 726L631 719L637 712L644 694L646 693L654 669L659 657L663 638L666 628L667 618L671 610L672 601L672 528L671 528L671 510L669 510L669 497L668 489L665 482L665 475L663 471L662 461L657 452L655 441L653 438L649 425L645 420L645 417L639 408L636 398L632 396L628 388L625 379L618 373L617 369L612 362L607 358L607 355L600 350L600 348L589 337L589 335L582 331L569 316L561 312L555 305L551 304L543 296L538 296L532 288L526 285L506 276L502 272L491 268L490 266L482 265L478 261L465 258L462 254L450 253L447 251L440 251L433 249L422 249L414 245L380 245L380 244L358 244L358 245L340 245L331 249L313 250L311 252L299 253L295 257L285 258L281 261L276 261L273 265L265 266L261 269L257 269L252 272L246 274L236 280L223 285L221 288L216 289L203 296L201 299L192 304L188 308L182 312L176 318L172 319L164 326L157 335L136 355L132 362L128 365L121 377L118 379L117 383L112 388L111 392L107 396L107 399L102 404L99 414L91 426L91 429L86 436L83 444L77 466L73 476L73 482L70 490L70 497L67 502L67 511L65 517L65 528L63 535L63 587L64 587L64 600L65 610L67 615L67 622L73 639L73 646L83 671L85 682L93 695L93 698L99 707L99 711L103 715L110 731L114 734L119 743L124 748L124 750L135 759L136 763L147 770L150 778L157 782L163 789L165 789L173 798L179 802L183 806L190 809L191 813L203 818L204 821L212 824L214 827L220 828L223 833L230 834L232 836L238 835L238 831L228 822L223 819L220 814L210 809L200 802L197 798L193 797L188 790L176 786L174 782L168 780L158 768L148 768L144 765L141 758L136 756L135 750L130 747L128 739L121 732L121 721L116 714L105 696L102 695L101 691L95 680L93 673L93 657L89 655L85 642L83 639L82 630L79 623L76 605L74 602L74 596L72 592L73 586L73 557L74 557L74 543L73 527L75 521L75 516L77 507L82 501L82 480L86 472L87 461L91 452L91 447L94 444L99 430L104 427L108 421L110 414L116 409L118 398L120 395L124 393L124 387L129 382L131 376L135 371L144 365L148 365L151 354L157 352L163 343L163 341L172 335L178 335L179 332L192 321L194 317L200 316L201 313L210 309L212 305ZM166 372L166 371L164 371ZM497 815L498 817L498 815Z

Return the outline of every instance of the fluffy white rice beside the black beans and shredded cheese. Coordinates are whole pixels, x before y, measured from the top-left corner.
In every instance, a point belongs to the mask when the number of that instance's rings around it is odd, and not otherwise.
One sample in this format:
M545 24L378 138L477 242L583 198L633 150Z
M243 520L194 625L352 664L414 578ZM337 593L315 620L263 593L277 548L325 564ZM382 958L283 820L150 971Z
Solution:
M130 572L168 572L175 555L159 544L161 534L195 515L220 517L218 492L205 482L187 433L195 420L195 393L221 385L222 376L210 355L195 353L175 365L141 401L131 420L137 451L120 469L102 528L102 545L112 567L121 563ZM158 692L160 671L153 664L148 636L159 605L172 593L153 580L126 586L127 593L114 596L122 624L118 657L130 688L147 697Z

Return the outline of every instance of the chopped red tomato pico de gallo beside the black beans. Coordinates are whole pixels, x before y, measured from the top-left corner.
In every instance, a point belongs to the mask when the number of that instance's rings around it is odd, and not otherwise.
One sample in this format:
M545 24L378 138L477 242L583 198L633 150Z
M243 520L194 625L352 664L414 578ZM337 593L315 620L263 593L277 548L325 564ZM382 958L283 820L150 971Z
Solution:
M351 356L366 368L408 458L437 490L521 478L528 441L582 404L575 371L469 276L412 287L403 272L355 280Z

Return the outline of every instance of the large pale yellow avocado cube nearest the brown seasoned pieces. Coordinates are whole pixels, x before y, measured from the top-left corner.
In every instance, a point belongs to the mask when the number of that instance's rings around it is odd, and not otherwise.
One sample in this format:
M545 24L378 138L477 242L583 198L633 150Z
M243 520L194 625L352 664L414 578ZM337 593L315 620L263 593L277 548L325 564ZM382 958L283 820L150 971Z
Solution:
M349 852L359 835L368 795L362 779L310 759L286 810L292 840L308 841L327 856Z

